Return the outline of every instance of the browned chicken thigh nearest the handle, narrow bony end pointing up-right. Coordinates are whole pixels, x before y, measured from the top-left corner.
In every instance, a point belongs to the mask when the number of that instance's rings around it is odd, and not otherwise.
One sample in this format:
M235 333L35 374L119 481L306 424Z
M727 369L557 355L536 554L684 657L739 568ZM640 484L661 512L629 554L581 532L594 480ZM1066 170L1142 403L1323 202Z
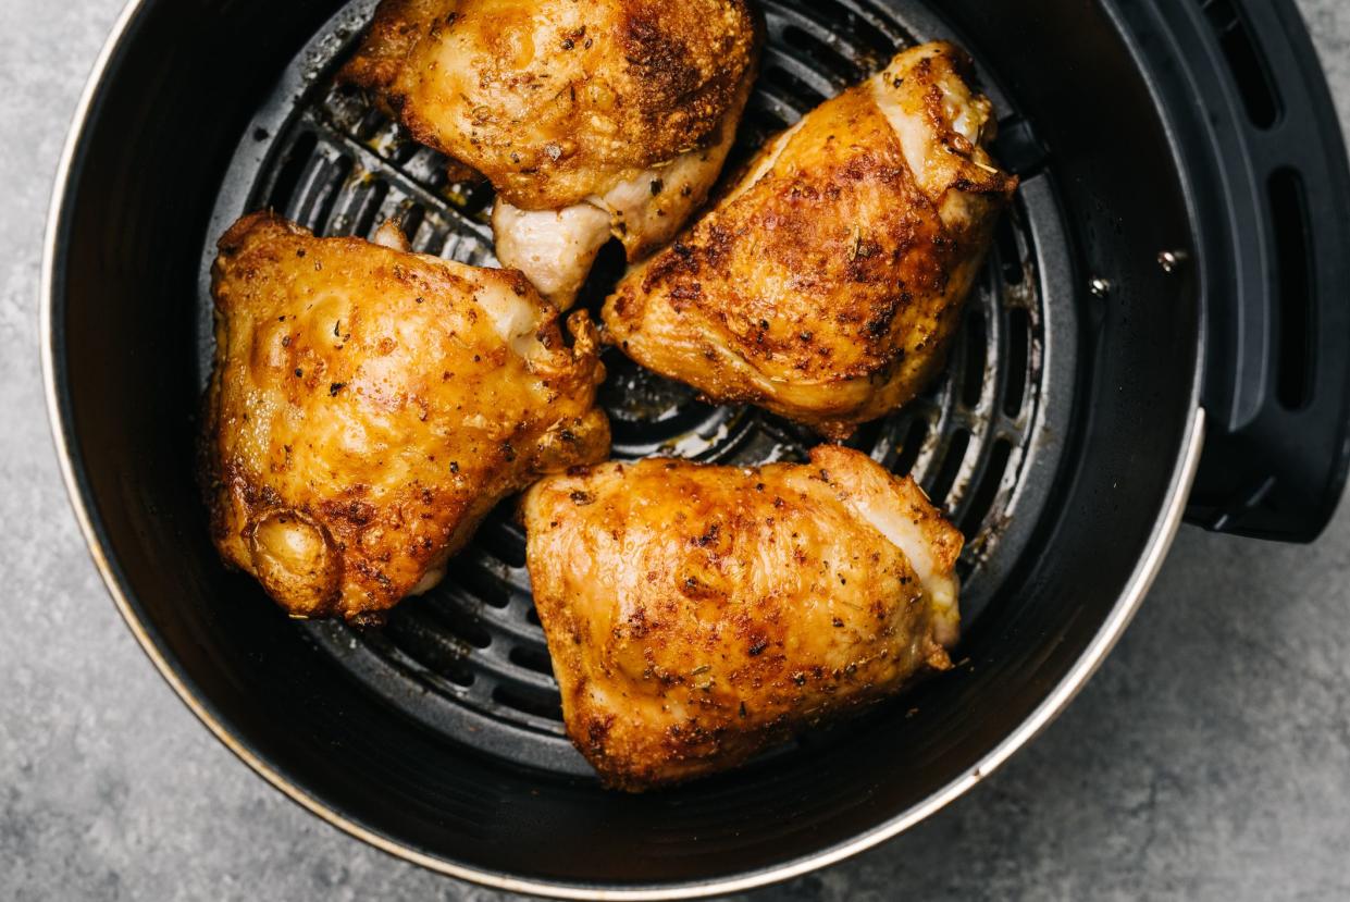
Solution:
M899 54L771 142L605 305L608 339L720 402L842 439L945 359L1017 188L990 101L946 43Z

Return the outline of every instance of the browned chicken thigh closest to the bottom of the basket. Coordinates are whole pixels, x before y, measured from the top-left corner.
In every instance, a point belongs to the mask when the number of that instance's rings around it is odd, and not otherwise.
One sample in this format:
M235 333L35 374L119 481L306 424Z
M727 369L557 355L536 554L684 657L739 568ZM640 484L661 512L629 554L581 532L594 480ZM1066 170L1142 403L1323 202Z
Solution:
M606 463L522 513L567 732L610 786L734 767L950 667L961 535L855 451Z

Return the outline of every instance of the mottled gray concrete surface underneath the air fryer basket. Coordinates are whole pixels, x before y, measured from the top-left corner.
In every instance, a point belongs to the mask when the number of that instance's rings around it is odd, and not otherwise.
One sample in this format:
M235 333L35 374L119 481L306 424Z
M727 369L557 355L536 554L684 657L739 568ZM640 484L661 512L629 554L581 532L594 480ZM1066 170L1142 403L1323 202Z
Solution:
M89 563L35 305L58 150L119 4L0 3L0 898L502 898L265 786L161 683ZM1301 5L1345 113L1350 4ZM1310 548L1184 531L1045 736L899 840L755 898L1350 898L1347 647L1350 506Z

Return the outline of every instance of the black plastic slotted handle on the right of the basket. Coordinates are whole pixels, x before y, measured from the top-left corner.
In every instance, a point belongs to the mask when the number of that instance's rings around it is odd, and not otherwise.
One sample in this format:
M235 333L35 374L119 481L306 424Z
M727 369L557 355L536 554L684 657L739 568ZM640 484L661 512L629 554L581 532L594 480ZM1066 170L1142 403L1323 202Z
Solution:
M1215 171L1243 173L1253 189L1196 192L1211 236L1202 236L1208 246L1193 270L1206 313L1207 427L1187 517L1218 532L1311 541L1331 520L1350 465L1345 139L1296 11L1246 1L1204 4L1203 16L1192 4L1168 9L1226 35L1219 49L1235 73L1231 124L1187 147L1218 153ZM1247 58L1264 62L1265 88L1243 78L1256 72ZM1253 105L1265 96L1269 108Z

